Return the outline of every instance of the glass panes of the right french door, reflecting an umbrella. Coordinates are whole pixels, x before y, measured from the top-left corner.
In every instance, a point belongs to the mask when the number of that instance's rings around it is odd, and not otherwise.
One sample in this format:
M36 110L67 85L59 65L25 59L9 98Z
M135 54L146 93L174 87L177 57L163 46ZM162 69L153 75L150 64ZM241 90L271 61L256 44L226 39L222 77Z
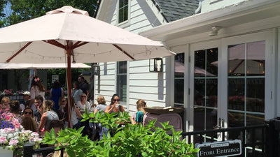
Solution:
M265 121L265 41L228 46L229 127Z

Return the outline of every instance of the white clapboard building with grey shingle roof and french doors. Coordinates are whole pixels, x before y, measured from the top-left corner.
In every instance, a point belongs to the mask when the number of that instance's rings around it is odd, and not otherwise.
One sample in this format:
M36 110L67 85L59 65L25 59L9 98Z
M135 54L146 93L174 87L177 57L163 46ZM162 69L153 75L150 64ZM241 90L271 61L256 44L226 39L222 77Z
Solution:
M280 117L279 0L106 0L97 19L177 55L163 59L162 73L149 72L148 60L100 63L95 97L118 93L130 112L140 98L181 105L186 131Z

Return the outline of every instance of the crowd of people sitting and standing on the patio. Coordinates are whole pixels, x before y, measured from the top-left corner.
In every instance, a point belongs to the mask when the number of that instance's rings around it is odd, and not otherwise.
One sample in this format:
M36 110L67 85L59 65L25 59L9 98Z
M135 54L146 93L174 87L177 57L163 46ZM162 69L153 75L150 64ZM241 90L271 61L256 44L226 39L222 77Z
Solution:
M18 117L25 130L38 132L41 136L45 131L54 128L55 124L61 124L59 130L68 127L68 108L71 107L71 125L72 128L84 126L83 135L88 135L91 140L102 139L107 135L108 128L102 127L101 124L81 121L82 114L87 112L125 112L123 105L120 105L120 96L114 94L111 103L106 105L104 96L98 96L97 104L88 101L89 87L83 76L78 77L78 82L73 82L71 98L72 104L68 105L67 98L64 96L64 89L60 87L58 81L55 81L50 89L50 100L45 100L45 87L41 84L40 77L34 76L31 81L30 91L23 92L23 101L10 100L8 97L1 99L0 112L11 112ZM141 124L143 122L144 110L146 107L145 100L137 101L136 119L130 117L132 124ZM116 115L118 117L118 114ZM58 130L57 130L58 132Z

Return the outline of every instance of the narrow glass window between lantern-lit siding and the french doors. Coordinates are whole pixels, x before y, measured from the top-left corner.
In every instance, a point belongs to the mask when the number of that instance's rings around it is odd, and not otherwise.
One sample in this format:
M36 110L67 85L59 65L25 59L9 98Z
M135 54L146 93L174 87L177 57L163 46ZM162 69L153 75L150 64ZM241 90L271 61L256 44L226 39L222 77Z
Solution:
M175 56L174 67L174 104L183 105L184 97L184 71L185 71L185 54L177 54Z

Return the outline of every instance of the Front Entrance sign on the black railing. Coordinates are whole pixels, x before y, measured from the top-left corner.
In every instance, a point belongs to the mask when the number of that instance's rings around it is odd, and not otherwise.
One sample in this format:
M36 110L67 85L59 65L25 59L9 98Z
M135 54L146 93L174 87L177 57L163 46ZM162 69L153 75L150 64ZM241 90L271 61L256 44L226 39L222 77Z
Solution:
M213 157L213 156L237 156L241 155L241 140L227 140L223 142L211 142L196 144L200 149L198 157Z

